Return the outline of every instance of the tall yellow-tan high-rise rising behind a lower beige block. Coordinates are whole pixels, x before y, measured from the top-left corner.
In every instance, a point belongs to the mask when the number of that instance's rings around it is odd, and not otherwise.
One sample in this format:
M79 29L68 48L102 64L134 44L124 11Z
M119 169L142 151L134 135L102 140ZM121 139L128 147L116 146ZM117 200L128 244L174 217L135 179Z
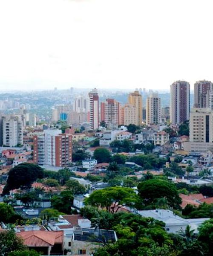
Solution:
M136 111L136 122L135 125L142 124L142 96L138 90L133 93L129 93L129 104L135 107Z

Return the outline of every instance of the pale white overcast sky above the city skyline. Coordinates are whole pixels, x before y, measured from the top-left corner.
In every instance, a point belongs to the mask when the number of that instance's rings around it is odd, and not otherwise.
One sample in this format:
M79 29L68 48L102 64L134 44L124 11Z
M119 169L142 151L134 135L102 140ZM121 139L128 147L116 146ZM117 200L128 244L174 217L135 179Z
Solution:
M0 90L213 81L212 0L0 0Z

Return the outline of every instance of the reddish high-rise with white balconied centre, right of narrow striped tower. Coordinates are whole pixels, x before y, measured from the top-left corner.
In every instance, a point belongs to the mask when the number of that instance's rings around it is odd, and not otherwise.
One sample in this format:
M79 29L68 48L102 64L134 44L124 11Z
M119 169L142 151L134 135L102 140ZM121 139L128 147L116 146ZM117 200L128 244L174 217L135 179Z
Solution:
M101 121L104 121L108 128L117 128L121 123L121 105L115 99L106 99L101 102Z

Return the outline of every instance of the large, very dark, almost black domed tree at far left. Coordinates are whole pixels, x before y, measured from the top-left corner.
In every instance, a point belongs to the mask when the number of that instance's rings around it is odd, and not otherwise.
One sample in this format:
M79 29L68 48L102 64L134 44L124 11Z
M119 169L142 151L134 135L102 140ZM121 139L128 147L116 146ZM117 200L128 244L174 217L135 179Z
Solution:
M43 169L34 163L20 163L9 171L3 194L8 194L12 189L30 188L38 178L43 178Z

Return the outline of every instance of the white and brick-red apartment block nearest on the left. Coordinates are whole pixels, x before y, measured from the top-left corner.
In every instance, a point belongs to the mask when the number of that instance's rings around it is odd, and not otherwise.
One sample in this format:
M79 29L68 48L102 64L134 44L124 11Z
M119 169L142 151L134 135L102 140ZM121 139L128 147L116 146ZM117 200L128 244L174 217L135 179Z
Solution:
M34 162L38 165L67 166L72 162L72 134L61 130L44 130L34 136Z

